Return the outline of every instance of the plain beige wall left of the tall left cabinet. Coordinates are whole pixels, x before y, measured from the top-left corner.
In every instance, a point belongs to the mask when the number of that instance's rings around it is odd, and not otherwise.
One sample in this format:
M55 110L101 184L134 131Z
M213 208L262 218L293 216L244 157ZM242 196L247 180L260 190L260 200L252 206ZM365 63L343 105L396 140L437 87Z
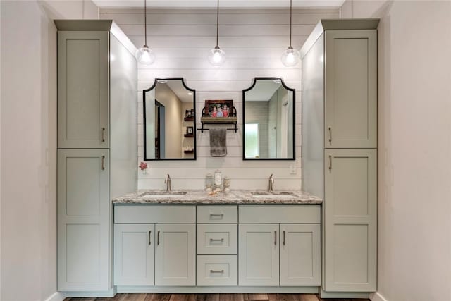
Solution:
M92 8L85 4L0 2L4 301L46 300L56 292L56 27L50 18L82 18L74 8Z

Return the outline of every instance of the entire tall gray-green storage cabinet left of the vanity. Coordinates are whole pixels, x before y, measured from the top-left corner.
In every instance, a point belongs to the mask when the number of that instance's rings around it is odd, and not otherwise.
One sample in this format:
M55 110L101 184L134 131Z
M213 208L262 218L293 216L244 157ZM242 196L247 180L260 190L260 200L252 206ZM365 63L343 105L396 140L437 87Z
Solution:
M113 268L111 199L137 189L135 47L112 20L55 24L58 290L107 295Z

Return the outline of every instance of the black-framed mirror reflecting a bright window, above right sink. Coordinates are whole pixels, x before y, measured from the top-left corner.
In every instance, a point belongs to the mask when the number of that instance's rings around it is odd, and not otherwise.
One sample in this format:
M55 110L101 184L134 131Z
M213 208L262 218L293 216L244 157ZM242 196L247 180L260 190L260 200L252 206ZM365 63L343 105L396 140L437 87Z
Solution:
M242 90L243 159L295 159L295 89L282 78L255 78Z

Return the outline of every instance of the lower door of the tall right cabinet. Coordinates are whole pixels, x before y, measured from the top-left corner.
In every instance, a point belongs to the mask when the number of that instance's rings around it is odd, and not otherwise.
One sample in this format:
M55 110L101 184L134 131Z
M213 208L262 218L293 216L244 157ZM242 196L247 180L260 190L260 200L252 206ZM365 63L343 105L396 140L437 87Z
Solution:
M324 290L376 290L376 149L326 149Z

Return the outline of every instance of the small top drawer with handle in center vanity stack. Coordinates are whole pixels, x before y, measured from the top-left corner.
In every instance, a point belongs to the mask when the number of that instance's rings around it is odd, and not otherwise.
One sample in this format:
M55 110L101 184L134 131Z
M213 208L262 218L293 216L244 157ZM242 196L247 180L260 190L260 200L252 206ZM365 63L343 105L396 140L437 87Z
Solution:
M237 206L198 206L197 223L236 223Z

